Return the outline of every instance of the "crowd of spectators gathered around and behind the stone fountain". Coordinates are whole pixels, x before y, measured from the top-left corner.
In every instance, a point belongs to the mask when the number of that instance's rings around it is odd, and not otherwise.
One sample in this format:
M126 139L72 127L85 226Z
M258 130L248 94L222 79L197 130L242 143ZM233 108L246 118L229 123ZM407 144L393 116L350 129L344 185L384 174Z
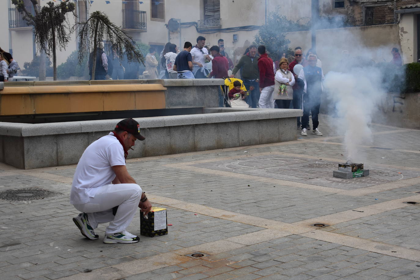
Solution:
M318 129L318 114L324 73L315 51L310 49L304 56L302 48L296 47L294 56L287 59L283 54L283 58L273 62L265 46L250 45L234 66L225 52L223 39L210 48L205 44L205 37L197 37L196 42L194 46L185 42L182 51L176 44L168 42L160 52L159 60L155 48L150 47L145 56L145 70L140 76L145 79L234 79L239 72L243 88L238 89L238 84L235 85L232 80L228 94L229 102L235 107L303 109L302 118L297 118L301 135L307 136L311 131L309 116L312 118L312 133L322 135ZM348 51L343 51L342 55L343 61L349 60ZM399 50L394 47L391 55L390 63L401 66ZM92 66L93 52L89 57L90 79ZM10 53L1 50L0 68L0 81L8 81L19 66ZM111 58L105 53L103 42L97 48L95 69L95 80L139 78L139 66L136 63L121 63L115 52ZM225 106L225 93L221 88L218 88L218 101L219 107Z

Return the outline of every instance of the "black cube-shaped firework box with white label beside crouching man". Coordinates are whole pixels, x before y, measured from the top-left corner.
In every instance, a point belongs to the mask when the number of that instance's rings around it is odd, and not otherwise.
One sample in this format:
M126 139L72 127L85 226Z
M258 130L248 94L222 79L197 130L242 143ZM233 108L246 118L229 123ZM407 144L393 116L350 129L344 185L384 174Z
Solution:
M140 212L140 234L150 237L168 234L166 209L153 206L147 216Z

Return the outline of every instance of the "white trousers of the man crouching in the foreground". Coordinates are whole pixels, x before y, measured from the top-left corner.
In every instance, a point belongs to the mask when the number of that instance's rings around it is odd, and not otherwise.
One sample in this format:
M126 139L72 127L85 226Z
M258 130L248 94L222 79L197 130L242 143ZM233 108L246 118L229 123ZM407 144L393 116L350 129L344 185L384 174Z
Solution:
M95 197L85 204L74 204L77 210L87 213L92 228L110 222L105 234L121 233L133 220L142 197L142 188L137 184L110 184L98 187ZM118 206L115 216L112 208Z

